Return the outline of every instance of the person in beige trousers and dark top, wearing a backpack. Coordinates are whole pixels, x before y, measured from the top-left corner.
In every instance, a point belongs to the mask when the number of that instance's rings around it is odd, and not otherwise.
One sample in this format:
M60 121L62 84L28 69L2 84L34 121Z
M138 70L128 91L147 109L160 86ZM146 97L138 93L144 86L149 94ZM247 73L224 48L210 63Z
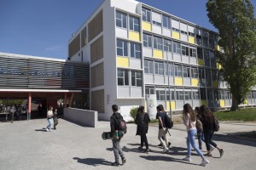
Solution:
M166 135L168 133L168 127L166 127L166 112L163 105L158 105L156 109L158 111L156 114L156 119L158 119L159 122L158 139L164 147L164 150L162 151L162 153L164 154L169 151L169 148L167 147L169 141ZM161 138L162 136L164 136L165 141Z

